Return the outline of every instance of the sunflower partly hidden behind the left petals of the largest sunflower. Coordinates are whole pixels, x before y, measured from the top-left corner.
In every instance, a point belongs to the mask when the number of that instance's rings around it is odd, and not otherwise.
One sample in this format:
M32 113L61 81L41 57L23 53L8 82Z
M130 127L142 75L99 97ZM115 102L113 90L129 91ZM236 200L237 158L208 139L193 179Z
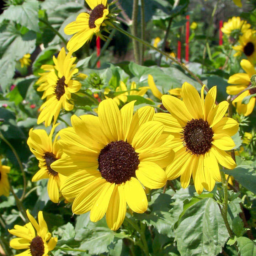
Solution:
M57 137L55 136L54 141L52 141L52 135L55 127L53 126L49 136L45 130L30 129L27 144L30 151L36 156L39 161L40 170L33 176L32 181L38 181L42 178L48 178L47 190L49 198L52 202L58 203L62 194L60 193L60 185L65 180L65 176L54 171L50 165L62 157L62 150L59 147Z

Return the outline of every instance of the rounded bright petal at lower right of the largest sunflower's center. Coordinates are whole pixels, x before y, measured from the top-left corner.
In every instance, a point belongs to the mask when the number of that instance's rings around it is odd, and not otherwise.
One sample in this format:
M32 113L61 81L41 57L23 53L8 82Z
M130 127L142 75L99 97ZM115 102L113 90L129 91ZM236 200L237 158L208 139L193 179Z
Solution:
M167 181L165 171L153 162L140 162L136 170L138 180L148 188L161 188Z

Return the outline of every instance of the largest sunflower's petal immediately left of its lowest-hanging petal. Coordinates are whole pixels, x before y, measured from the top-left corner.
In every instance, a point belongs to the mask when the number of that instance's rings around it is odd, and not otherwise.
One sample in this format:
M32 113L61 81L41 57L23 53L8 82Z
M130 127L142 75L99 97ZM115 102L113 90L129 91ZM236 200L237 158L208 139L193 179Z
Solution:
M106 182L97 198L95 198L90 213L90 220L92 222L97 222L105 215L115 185L115 183Z

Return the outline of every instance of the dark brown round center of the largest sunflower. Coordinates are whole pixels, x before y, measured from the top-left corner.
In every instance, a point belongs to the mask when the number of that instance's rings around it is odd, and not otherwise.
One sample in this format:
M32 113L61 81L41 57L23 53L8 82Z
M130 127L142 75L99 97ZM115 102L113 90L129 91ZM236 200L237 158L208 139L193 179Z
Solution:
M134 148L123 140L108 143L98 156L98 170L110 183L121 184L135 177L139 157Z

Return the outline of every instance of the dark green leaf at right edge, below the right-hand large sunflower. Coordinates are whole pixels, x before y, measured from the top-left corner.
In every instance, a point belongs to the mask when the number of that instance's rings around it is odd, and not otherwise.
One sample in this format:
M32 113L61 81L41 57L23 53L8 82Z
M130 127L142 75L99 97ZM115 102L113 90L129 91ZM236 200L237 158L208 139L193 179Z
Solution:
M232 175L242 186L256 194L256 172L252 166L238 165L234 170L224 170L226 174Z

